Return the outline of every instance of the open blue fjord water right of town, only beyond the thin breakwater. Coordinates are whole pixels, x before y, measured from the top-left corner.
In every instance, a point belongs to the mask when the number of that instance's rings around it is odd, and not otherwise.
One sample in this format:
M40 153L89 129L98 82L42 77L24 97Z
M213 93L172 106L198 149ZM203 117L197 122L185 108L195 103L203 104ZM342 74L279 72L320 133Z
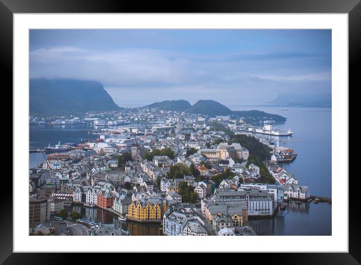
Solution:
M276 145L279 141L279 146L294 149L297 157L293 162L282 166L298 178L299 185L309 185L311 195L332 197L331 108L287 108L288 111L282 111L282 107L234 106L230 109L259 110L287 118L285 124L274 126L283 130L290 128L293 135L272 138Z

